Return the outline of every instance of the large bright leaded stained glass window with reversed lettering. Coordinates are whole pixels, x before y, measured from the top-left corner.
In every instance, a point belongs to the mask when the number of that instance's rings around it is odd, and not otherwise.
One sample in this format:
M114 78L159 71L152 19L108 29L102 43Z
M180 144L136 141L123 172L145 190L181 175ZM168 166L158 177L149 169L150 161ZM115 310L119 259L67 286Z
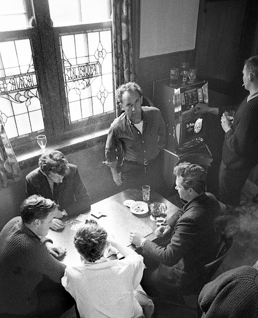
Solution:
M111 0L0 2L0 118L12 146L109 127Z

